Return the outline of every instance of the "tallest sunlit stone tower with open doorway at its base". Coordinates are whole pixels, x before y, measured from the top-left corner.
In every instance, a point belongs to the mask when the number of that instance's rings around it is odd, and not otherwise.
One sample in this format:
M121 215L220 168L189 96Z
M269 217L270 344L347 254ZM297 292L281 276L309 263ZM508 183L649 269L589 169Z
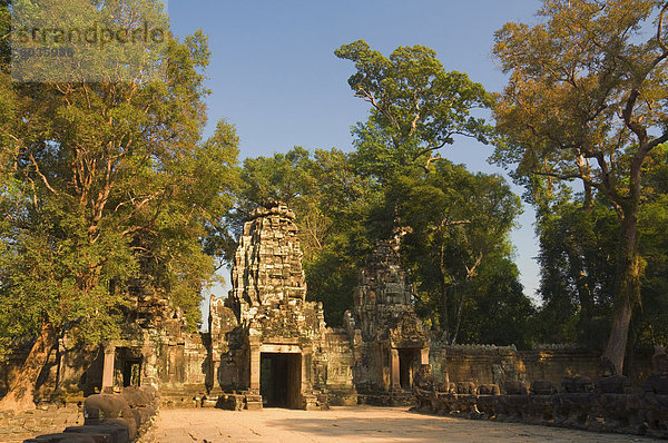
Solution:
M326 407L335 332L325 326L322 304L306 301L297 226L287 207L274 204L253 213L232 278L225 305L212 299L212 362L219 395L240 392L247 408L263 403ZM337 348L335 355L342 351L347 350ZM352 384L345 387L351 391Z

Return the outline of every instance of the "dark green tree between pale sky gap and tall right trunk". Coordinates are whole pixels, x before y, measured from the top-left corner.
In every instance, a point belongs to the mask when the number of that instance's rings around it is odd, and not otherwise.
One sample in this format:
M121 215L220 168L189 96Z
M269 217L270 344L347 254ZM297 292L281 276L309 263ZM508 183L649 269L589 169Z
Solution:
M563 191L537 210L542 343L602 348L609 334L619 227L613 210Z

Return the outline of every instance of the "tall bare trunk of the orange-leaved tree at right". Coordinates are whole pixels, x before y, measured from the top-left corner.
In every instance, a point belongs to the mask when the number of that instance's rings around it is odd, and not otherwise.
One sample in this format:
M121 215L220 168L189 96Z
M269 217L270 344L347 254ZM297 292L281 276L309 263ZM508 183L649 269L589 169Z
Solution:
M610 358L618 374L623 370L623 357L633 306L640 299L642 265L638 254L638 206L633 205L621 224L621 244L617 277L617 303L608 345L603 356Z

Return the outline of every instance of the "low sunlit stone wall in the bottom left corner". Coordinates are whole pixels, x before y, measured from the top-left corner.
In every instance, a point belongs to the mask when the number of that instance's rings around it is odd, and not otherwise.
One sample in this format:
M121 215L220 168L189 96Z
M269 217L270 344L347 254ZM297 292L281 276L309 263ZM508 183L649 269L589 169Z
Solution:
M14 414L0 412L0 442L19 443L37 434L60 432L67 426L84 424L84 412L77 404L58 407L40 405L35 411Z

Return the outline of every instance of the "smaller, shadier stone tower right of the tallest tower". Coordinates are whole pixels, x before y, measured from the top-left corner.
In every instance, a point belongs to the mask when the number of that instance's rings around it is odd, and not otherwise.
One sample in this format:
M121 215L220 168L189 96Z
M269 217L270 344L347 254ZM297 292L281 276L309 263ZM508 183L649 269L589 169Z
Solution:
M380 242L360 273L354 309L344 316L355 356L354 381L363 401L412 402L413 375L429 363L430 336L412 304L399 242Z

